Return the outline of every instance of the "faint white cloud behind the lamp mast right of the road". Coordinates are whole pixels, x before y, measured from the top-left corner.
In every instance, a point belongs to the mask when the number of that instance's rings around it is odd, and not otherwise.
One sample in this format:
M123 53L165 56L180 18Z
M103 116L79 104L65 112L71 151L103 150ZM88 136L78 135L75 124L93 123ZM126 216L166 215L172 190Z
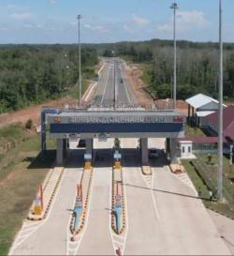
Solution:
M180 32L191 30L192 28L204 28L209 25L208 20L202 11L178 11L177 12L177 30ZM173 29L173 23L160 24L157 26L159 31L171 32Z

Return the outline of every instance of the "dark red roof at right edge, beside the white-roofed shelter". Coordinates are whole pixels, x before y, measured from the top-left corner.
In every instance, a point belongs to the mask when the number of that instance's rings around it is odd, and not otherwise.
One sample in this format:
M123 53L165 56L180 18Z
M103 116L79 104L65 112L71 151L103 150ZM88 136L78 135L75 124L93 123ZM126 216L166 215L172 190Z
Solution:
M216 127L218 126L219 112L211 113L205 118ZM234 141L234 105L230 105L224 109L224 136Z

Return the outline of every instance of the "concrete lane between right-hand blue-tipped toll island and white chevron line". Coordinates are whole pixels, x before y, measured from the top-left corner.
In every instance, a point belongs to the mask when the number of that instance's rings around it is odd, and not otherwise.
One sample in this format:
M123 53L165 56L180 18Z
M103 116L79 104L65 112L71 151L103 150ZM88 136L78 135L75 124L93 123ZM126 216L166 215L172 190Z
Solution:
M161 226L154 211L151 190L141 177L140 168L124 168L128 232L125 255L164 254Z

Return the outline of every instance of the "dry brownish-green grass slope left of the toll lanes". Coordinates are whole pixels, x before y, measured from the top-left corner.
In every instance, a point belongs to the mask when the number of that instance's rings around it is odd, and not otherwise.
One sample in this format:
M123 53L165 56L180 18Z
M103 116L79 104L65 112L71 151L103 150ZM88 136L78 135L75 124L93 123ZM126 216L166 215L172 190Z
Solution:
M9 131L7 134L12 129ZM4 156L6 167L0 171L0 255L7 255L15 234L22 226L22 220L26 218L38 186L53 162L54 153L49 153L42 161L38 158L39 149L39 136L32 135Z

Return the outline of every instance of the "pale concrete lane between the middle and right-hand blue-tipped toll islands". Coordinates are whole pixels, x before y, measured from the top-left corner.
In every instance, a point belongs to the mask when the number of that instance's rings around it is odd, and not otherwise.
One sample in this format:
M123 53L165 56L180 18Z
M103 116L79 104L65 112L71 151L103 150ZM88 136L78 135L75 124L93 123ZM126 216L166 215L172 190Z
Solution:
M113 255L110 236L111 168L95 168L93 192L78 255Z

